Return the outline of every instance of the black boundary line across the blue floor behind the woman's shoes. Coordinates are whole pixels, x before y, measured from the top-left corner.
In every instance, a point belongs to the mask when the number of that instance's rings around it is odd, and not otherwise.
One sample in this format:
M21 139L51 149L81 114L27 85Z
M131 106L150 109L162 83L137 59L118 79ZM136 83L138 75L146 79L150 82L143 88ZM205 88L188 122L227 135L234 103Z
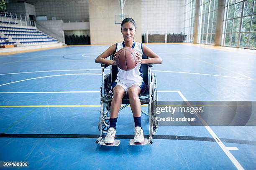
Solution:
M106 135L102 137L105 138ZM149 135L144 135L148 138ZM97 139L99 135L90 134L6 134L0 133L0 138L86 138L86 139ZM132 139L134 135L116 135L118 139ZM199 137L199 136L176 136L176 135L154 135L153 139L165 139L165 140L195 140L195 141L206 141L215 142L214 138L210 137ZM224 143L238 143L246 145L256 145L256 141L249 140L236 140L220 138Z

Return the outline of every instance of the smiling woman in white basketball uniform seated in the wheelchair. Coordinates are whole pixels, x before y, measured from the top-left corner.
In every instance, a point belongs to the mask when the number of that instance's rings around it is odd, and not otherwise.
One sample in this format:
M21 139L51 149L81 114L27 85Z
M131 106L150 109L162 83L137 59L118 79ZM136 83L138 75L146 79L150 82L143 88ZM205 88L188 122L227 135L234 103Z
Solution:
M122 99L125 94L127 94L135 124L134 143L143 143L144 136L143 130L141 129L141 102L138 95L145 90L145 83L142 79L140 67L141 64L161 64L162 59L147 46L133 41L136 34L136 23L132 18L125 18L122 21L121 33L124 38L123 42L112 45L95 60L96 63L116 65L115 55L117 54L117 51L123 47L133 48L136 50L136 56L138 57L138 60L136 60L137 66L133 70L124 71L118 68L117 79L112 84L113 100L110 106L110 128L104 141L106 144L114 143L118 112L121 107ZM106 58L112 54L114 54L114 60L107 60ZM142 59L142 54L147 55L149 59Z

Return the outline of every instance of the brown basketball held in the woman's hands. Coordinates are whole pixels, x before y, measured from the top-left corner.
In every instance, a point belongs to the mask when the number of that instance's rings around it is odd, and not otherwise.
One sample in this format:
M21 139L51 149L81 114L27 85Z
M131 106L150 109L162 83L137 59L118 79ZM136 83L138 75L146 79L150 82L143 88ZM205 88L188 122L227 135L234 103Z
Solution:
M115 58L116 65L125 71L132 70L137 66L136 51L130 47L124 47L120 49Z

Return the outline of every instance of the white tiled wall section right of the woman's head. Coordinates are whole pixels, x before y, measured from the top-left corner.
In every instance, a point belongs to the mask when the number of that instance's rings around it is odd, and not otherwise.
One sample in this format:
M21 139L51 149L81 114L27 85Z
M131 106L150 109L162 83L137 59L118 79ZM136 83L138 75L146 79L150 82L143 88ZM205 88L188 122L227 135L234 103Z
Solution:
M182 32L184 4L184 0L141 0L141 32L146 33L146 30Z

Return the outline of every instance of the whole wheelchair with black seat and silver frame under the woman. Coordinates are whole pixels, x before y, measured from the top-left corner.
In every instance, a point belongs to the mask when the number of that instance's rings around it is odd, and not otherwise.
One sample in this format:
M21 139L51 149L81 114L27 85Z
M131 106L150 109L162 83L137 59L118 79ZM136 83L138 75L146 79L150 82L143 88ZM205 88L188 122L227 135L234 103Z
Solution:
M110 55L110 60L113 60L113 54ZM143 59L147 59L146 55L142 56ZM113 65L101 64L102 67L102 85L100 87L100 120L98 122L98 129L100 130L100 137L96 140L97 144L105 145L104 139L102 139L102 133L107 133L110 124L110 105L113 98L111 90L112 83L116 80L118 68ZM110 67L110 73L104 74L105 68ZM156 102L157 102L157 81L156 76L151 72L153 64L141 65L143 81L146 84L146 90L139 95L141 105L148 105L148 113L141 110L141 112L148 116L149 121L149 138L144 139L143 145L153 144L152 135L155 135L158 130L158 122L156 121ZM123 105L124 104L124 105ZM120 110L123 110L129 105L129 98L126 94L123 97ZM114 146L118 146L120 140L115 140ZM133 145L133 139L130 140L130 145Z

